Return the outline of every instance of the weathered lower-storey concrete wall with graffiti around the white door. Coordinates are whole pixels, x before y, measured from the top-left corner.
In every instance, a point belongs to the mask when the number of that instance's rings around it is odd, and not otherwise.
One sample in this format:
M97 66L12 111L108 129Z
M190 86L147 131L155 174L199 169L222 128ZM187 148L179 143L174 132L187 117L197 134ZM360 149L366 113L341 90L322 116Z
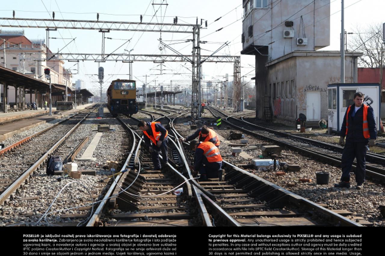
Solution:
M340 57L336 55L328 56L328 54L323 54L323 56L309 55L310 53L300 52L297 56L287 58L268 66L268 85L271 86L271 104L273 106L274 116L279 121L291 122L299 115L299 113L304 113L306 115L307 105L310 104L307 102L307 93L310 91L320 92L320 119L327 120L327 86L331 83L340 82ZM319 54L316 53L316 55ZM357 82L354 78L354 76L357 76L355 70L357 70L357 61L353 61L352 56L346 56L346 83ZM276 93L277 95L274 95L274 83L277 85L278 82L280 84L284 82L286 86L286 82L289 81L290 87L291 80L295 80L294 95L291 93L290 96L287 97L286 88L284 96L282 96L281 90L279 93ZM257 95L262 93L262 91L258 91L258 89L257 86ZM260 108L259 110L262 109L263 108Z

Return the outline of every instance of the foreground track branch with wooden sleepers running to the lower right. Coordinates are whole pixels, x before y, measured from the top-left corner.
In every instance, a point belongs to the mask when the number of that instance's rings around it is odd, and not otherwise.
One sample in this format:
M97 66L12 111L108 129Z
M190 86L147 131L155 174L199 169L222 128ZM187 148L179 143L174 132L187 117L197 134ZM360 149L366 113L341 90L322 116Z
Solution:
M184 146L182 148L185 165L191 167L193 152ZM341 215L350 214L348 211L323 208L227 161L223 161L223 169L226 173L223 181L209 179L197 186L201 192L196 196L205 203L211 225L361 226ZM188 173L191 176L191 171Z

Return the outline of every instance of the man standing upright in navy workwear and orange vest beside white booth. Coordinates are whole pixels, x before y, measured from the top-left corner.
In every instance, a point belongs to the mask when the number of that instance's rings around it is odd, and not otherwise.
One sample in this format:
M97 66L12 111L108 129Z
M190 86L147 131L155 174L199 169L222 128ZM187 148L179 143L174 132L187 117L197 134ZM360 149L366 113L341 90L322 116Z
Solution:
M345 135L346 142L344 142ZM345 147L341 159L341 181L334 185L335 188L350 188L350 171L354 158L357 159L356 189L361 190L363 188L368 143L369 146L374 146L376 137L377 130L373 108L363 104L363 93L357 92L354 94L354 104L346 110L340 130L339 144L345 145Z

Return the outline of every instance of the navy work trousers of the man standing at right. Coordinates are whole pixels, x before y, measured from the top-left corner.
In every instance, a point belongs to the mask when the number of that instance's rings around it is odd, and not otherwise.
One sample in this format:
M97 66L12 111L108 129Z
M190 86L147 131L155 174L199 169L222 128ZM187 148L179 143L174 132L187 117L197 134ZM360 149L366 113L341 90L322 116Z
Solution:
M357 168L355 171L356 182L361 184L365 182L365 156L368 150L368 142L353 142L346 140L345 147L342 151L341 167L342 176L341 181L350 181L350 171L354 158L356 158Z

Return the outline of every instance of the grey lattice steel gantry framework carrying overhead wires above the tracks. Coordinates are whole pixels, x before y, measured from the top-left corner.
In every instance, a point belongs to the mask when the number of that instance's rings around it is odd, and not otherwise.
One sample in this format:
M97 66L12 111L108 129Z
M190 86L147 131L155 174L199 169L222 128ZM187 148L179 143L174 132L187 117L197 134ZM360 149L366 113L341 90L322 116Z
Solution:
M102 32L102 51L101 54L88 53L58 53L52 57L58 60L67 61L85 61L92 60L94 62L105 61L121 61L121 62L190 62L192 64L192 97L191 97L191 118L200 117L201 110L201 67L203 62L231 62L234 63L234 95L233 97L234 111L239 111L240 105L240 57L239 56L201 56L200 48L200 30L201 25L198 24L177 24L175 23L146 23L146 22L115 22L100 20L54 20L39 18L0 18L0 27L13 28L44 28L47 31L47 48L49 45L49 31L62 29L82 29L82 30L98 30ZM170 33L191 33L192 38L192 55L186 56L177 53L177 55L132 55L110 53L105 55L104 52L104 33L112 30L115 31L142 31L142 32L170 32ZM49 50L47 50L48 52ZM218 52L218 50L216 51ZM216 53L214 52L214 53ZM213 53L213 54L214 54ZM51 58L52 58L51 57ZM47 59L49 58L47 53ZM201 58L204 58L201 61ZM238 81L239 80L239 81ZM238 88L239 87L239 88ZM239 93L235 92L239 91ZM234 100L235 99L235 100Z

